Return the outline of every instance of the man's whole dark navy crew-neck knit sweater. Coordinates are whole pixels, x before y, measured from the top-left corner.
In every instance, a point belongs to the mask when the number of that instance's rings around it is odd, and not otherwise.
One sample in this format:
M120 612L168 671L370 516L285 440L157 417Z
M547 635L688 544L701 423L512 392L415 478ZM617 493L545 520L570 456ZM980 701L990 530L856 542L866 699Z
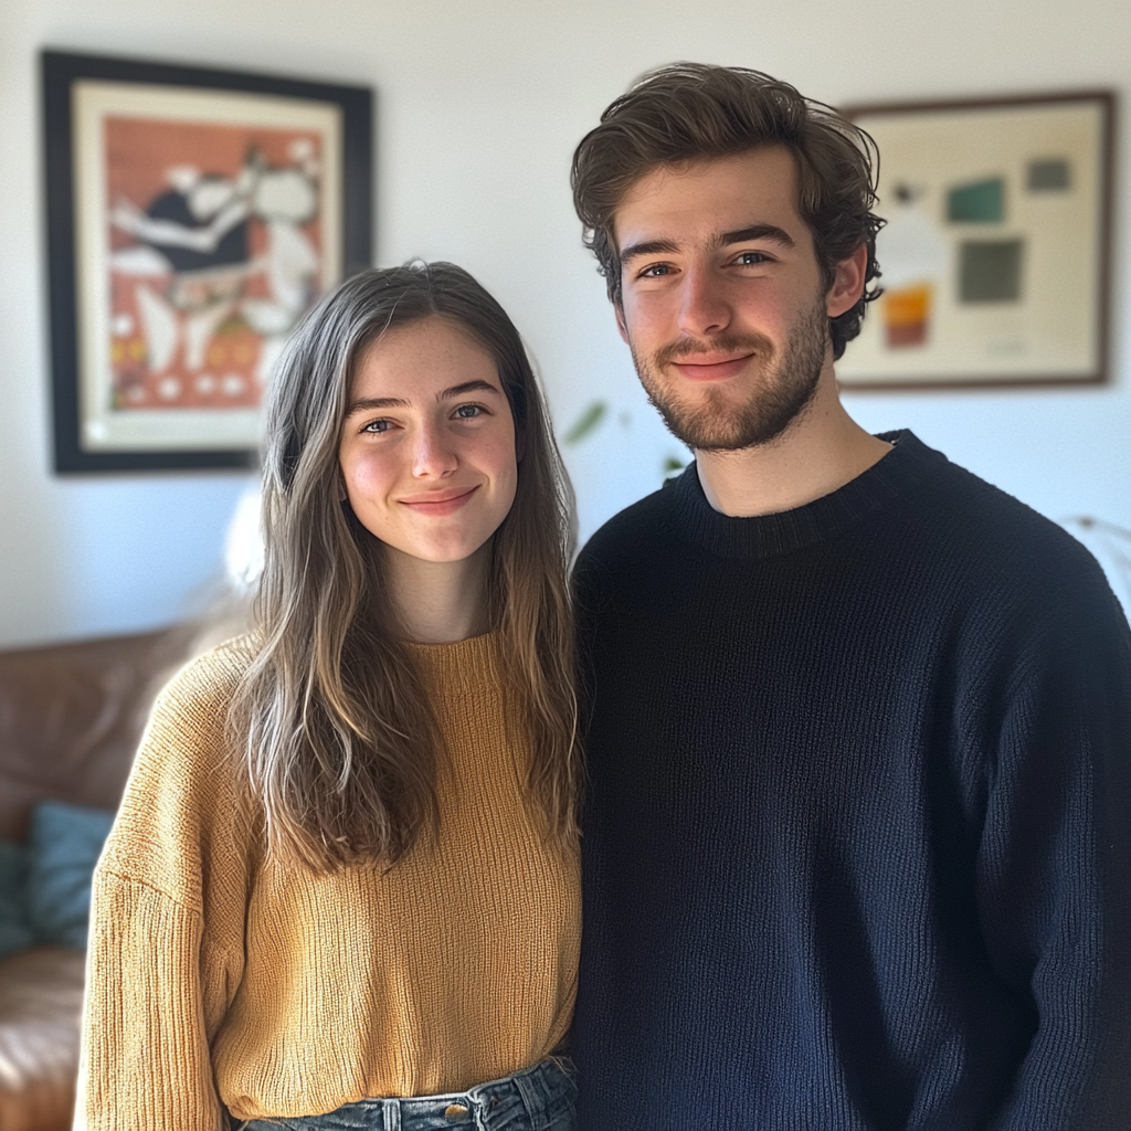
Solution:
M805 507L694 467L576 571L581 1131L1131 1128L1131 634L908 432Z

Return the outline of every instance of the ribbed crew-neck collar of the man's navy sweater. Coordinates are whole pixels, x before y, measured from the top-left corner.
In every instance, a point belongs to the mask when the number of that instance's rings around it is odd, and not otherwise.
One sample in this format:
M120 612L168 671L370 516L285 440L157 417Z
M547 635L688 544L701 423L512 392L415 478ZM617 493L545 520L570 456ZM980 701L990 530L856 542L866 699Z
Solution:
M906 429L883 432L880 439L893 444L891 451L843 487L794 510L756 518L731 518L715 510L691 464L667 485L676 525L690 541L722 558L772 558L836 537L947 463L942 452Z

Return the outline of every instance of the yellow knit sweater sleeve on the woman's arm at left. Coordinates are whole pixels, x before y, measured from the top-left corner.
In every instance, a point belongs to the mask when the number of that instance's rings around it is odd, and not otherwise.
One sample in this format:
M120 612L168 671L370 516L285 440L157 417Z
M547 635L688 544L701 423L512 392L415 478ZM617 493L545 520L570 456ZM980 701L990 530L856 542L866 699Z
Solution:
M250 873L224 737L239 656L162 692L95 871L76 1125L219 1131L210 1045L243 973Z

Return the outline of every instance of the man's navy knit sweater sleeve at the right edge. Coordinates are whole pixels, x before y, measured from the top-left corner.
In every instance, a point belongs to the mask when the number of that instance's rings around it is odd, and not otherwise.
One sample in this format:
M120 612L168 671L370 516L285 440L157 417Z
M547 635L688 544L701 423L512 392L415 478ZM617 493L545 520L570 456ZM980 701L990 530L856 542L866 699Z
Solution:
M996 1131L1131 1122L1131 636L1094 564L1029 611L991 711L979 915L1035 1026Z

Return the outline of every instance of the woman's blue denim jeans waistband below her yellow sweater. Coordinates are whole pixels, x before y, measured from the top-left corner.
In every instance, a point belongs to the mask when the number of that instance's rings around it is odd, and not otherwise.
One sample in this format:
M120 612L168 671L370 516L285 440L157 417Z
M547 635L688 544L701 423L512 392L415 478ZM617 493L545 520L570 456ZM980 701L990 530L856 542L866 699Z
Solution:
M240 1131L573 1131L577 1088L555 1061L447 1096L361 1099L326 1115L250 1120Z

